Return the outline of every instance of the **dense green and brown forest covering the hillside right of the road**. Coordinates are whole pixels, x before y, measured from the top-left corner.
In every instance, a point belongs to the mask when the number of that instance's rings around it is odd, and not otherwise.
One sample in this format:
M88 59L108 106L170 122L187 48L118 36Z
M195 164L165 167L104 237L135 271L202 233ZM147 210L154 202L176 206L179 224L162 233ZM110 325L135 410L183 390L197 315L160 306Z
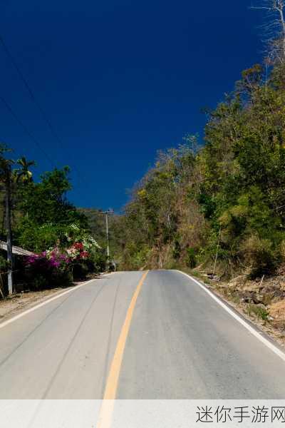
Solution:
M124 269L269 275L285 262L285 63L242 72L207 111L204 144L160 152L117 219Z

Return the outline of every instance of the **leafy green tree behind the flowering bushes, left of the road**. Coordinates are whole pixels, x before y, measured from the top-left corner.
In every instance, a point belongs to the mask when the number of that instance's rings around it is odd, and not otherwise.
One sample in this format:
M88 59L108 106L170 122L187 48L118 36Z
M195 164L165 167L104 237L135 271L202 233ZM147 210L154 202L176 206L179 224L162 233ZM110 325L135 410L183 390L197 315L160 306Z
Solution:
M68 201L71 190L69 168L55 168L43 173L41 181L29 180L19 187L21 197L17 208L22 218L17 225L19 245L38 252L46 250L66 238L69 225L88 229L86 216Z

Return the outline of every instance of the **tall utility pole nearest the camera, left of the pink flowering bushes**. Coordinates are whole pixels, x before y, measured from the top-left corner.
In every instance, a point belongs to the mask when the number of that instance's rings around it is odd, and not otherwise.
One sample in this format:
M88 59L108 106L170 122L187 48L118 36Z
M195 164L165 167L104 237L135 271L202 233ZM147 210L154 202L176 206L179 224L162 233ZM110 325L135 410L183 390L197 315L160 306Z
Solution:
M13 287L13 244L12 244L12 228L11 228L11 165L6 168L6 231L7 231L7 261L8 267L8 292L11 295L14 291Z

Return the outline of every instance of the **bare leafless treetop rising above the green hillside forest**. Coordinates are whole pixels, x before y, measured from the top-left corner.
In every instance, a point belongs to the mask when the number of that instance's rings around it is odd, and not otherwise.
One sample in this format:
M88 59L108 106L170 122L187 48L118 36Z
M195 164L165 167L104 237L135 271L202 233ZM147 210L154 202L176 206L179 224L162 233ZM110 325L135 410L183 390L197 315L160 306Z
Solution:
M251 9L266 11L264 25L271 61L285 62L285 0L259 0Z

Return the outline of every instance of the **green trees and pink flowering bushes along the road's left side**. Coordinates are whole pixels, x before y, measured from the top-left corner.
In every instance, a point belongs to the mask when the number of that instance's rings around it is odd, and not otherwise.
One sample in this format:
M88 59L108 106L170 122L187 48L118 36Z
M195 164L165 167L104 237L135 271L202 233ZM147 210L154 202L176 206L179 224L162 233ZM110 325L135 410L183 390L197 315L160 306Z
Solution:
M95 240L84 213L66 196L71 190L68 167L41 175L36 183L26 158L12 161L11 150L1 145L0 238L6 242L6 176L11 190L13 245L29 250L28 257L14 255L15 290L43 290L71 285L73 280L105 270L105 250ZM7 292L6 252L0 255L2 292Z

